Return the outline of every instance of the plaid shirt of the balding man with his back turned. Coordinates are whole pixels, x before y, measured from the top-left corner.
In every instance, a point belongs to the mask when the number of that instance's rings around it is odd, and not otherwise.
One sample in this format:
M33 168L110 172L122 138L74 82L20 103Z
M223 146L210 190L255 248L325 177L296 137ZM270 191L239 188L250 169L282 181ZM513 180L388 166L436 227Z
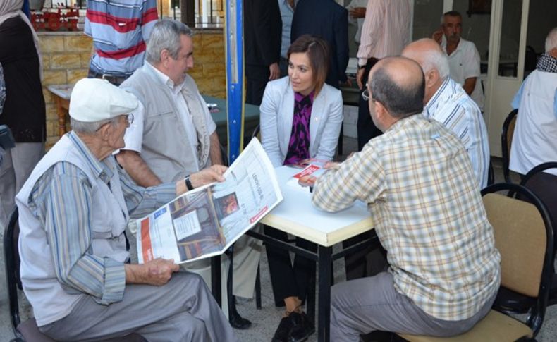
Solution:
M498 290L501 257L470 159L441 123L403 118L313 192L328 212L355 200L368 203L396 290L427 314L467 319Z

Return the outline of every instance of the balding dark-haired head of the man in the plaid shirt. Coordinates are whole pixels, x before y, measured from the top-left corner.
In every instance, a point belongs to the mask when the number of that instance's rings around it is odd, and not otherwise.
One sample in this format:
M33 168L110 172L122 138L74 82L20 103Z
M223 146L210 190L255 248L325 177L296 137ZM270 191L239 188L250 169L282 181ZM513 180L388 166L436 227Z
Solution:
M403 118L423 110L424 73L411 59L381 59L369 72L368 84L372 98L393 117Z

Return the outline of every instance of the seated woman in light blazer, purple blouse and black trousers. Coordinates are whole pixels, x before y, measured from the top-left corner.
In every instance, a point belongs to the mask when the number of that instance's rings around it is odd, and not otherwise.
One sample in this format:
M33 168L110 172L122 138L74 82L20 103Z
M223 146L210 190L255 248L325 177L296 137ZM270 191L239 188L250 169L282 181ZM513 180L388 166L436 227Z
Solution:
M329 66L326 42L303 35L288 49L288 77L267 83L261 111L262 145L274 166L303 159L332 160L343 122L341 92L325 84ZM265 233L287 240L286 233L266 226ZM317 250L302 238L296 244ZM315 263L299 257L290 262L288 251L267 245L275 305L286 306L273 341L302 341L315 331L301 305Z

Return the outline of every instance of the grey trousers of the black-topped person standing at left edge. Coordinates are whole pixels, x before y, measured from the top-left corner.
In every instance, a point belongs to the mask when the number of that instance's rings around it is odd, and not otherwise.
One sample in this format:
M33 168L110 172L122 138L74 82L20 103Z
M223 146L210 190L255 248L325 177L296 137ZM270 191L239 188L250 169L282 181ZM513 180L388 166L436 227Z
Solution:
M5 227L16 207L16 194L44 154L43 142L17 142L6 150L0 166L0 227Z

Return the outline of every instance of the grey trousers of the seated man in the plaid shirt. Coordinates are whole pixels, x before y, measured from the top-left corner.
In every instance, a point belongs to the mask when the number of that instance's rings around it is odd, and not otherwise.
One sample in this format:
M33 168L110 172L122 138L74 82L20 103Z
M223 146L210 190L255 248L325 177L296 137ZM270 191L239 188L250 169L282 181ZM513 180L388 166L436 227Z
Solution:
M345 281L331 288L331 341L360 341L360 334L376 330L427 336L462 334L486 316L495 297L469 319L446 321L430 316L398 293L388 272Z

